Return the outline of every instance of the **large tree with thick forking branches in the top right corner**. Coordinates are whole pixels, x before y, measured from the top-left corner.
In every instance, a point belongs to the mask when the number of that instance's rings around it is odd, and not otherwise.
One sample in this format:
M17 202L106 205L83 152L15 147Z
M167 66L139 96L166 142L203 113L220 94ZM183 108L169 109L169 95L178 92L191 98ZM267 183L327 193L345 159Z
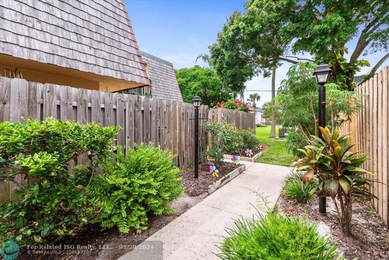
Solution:
M371 64L374 66L365 78L374 75L389 58L388 0L286 1L296 2L295 12L280 32L294 38L292 53L309 53L329 64L334 81L344 89L355 88L354 75L361 66L370 65L370 54L386 53ZM348 53L351 56L346 59Z

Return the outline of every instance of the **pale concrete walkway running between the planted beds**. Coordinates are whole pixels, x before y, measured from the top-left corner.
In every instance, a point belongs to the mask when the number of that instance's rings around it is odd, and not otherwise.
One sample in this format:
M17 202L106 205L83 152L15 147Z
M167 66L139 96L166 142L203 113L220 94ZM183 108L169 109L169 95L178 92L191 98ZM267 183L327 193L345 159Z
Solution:
M242 163L246 165L243 173L142 242L143 249L131 251L120 260L217 259L212 252L220 252L217 245L226 235L225 228L256 213L253 205L260 203L250 189L267 196L272 206L280 196L283 177L290 172L283 166Z

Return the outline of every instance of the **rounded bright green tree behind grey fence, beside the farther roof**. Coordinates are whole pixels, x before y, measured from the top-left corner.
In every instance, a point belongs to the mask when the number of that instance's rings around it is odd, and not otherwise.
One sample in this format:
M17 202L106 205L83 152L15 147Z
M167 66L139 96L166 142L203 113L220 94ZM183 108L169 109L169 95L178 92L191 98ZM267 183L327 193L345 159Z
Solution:
M228 100L234 95L224 88L220 77L210 68L196 65L192 68L176 70L177 82L184 102L192 103L192 98L198 94L202 104L214 106L217 102Z

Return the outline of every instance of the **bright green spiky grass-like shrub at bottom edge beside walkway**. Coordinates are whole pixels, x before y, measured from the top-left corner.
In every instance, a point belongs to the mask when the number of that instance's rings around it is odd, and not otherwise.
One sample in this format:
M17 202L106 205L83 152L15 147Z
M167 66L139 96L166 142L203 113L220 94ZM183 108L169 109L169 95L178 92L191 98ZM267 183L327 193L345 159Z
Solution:
M220 259L304 259L332 260L335 244L318 235L317 225L277 213L259 215L258 220L241 219L227 229L227 237L219 247Z

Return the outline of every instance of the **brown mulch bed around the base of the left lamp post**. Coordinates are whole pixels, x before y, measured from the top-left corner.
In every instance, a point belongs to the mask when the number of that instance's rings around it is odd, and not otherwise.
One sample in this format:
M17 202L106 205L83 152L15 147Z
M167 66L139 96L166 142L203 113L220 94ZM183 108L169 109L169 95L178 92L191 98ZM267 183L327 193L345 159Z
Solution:
M185 188L185 194L189 196L198 196L207 193L210 185L229 174L238 166L235 166L232 163L218 165L218 178L212 177L209 167L209 163L202 163L198 166L198 179L195 179L195 168L188 168L178 175L179 177L182 177L182 186Z

